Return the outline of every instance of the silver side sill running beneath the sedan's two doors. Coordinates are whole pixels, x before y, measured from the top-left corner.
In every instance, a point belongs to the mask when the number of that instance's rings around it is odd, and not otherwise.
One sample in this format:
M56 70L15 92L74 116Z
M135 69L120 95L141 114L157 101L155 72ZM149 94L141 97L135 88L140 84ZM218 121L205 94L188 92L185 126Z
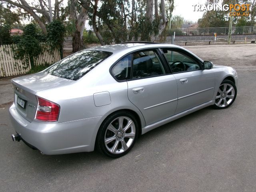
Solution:
M186 110L186 111L180 112L180 113L178 113L178 114L174 114L174 115L172 115L172 116L170 116L170 117L167 117L167 118L165 118L165 119L162 119L162 120L160 120L160 121L158 121L158 122L154 122L154 123L152 123L152 124L150 124L150 125L148 125L148 126L142 128L142 134L144 134L144 133L146 133L146 132L148 132L148 131L150 131L150 130L152 130L152 129L154 129L154 128L157 128L157 127L159 127L159 126L161 126L161 125L164 125L164 124L166 124L166 123L168 123L168 122L171 122L171 121L173 121L173 120L176 120L176 119L178 119L178 118L180 118L180 117L182 117L182 116L185 116L185 115L187 115L187 114L190 114L190 113L192 113L192 112L194 112L194 111L197 111L197 110L199 110L199 109L202 109L202 108L205 108L205 107L207 107L207 106L210 106L210 105L212 105L212 104L214 104L214 100L205 102L205 103L203 103L203 104L200 104L200 105L198 105L198 106L196 106L196 107L190 108L190 109L188 109L188 110Z

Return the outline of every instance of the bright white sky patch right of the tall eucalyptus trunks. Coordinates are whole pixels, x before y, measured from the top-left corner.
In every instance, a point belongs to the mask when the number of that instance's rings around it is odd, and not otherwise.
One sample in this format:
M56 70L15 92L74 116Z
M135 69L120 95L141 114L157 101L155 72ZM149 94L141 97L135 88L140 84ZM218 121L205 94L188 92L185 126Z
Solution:
M206 0L174 0L174 11L172 15L180 15L185 20L197 22L199 18L202 18L203 11L193 11L192 5L205 4Z

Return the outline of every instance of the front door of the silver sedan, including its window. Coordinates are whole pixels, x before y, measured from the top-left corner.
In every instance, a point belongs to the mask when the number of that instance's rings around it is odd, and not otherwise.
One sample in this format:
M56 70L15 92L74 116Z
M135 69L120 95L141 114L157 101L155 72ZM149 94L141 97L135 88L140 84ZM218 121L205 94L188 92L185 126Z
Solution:
M215 78L212 70L202 70L200 62L179 49L163 49L178 85L176 114L212 100Z

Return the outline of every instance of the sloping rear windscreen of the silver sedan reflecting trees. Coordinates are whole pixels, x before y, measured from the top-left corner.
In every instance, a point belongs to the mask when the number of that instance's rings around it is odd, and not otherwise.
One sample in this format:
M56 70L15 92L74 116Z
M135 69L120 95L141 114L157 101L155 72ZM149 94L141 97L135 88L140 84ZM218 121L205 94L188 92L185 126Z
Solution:
M78 80L111 54L111 52L105 51L83 50L60 60L43 72L70 80Z

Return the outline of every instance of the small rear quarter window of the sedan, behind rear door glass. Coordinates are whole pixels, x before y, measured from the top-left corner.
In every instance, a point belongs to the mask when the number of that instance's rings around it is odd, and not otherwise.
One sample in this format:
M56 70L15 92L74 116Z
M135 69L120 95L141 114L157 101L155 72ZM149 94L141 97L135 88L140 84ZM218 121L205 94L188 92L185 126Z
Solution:
M132 66L132 56L128 55L122 58L113 68L112 74L118 80L126 80L130 78L131 66Z

